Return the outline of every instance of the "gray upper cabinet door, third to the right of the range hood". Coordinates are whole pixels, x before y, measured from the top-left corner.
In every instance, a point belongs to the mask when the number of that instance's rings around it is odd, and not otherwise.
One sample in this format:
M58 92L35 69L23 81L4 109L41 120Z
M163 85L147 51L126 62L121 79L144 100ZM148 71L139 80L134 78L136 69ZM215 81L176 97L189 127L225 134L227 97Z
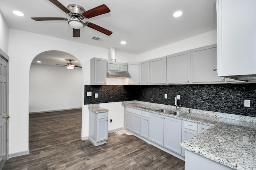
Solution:
M149 76L150 84L166 83L166 57L150 60Z

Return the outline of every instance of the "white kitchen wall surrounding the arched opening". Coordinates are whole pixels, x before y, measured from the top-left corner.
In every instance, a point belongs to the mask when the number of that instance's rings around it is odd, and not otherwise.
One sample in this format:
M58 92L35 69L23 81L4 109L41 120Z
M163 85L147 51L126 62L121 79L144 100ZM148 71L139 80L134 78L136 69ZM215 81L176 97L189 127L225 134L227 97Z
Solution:
M28 113L29 113L29 70L34 57L44 51L64 51L76 57L82 66L82 85L90 84L90 59L110 58L110 49L83 45L67 40L48 37L26 31L9 29L10 75L9 75L9 152L15 154L28 151ZM118 57L135 56L119 53ZM82 92L82 134L88 136L88 106L84 105Z

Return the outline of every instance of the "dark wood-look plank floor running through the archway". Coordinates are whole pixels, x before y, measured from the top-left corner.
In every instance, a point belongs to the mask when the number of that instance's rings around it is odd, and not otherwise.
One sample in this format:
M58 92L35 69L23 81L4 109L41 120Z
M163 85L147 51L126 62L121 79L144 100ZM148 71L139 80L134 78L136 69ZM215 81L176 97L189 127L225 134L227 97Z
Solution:
M185 162L137 137L117 131L104 145L81 141L82 110L29 115L30 153L4 170L184 170Z

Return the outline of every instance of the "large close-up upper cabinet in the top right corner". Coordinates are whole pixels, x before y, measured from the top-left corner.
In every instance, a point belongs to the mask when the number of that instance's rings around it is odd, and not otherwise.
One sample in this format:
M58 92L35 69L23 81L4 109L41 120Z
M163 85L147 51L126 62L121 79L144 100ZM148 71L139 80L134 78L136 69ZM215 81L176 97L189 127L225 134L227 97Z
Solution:
M218 75L256 74L256 1L217 0Z

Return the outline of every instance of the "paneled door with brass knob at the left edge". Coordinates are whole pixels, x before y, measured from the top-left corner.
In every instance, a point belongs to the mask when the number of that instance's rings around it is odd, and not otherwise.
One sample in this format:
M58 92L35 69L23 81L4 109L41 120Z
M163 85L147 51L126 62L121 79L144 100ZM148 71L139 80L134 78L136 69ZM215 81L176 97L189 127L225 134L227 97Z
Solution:
M0 169L7 160L7 61L0 57Z

